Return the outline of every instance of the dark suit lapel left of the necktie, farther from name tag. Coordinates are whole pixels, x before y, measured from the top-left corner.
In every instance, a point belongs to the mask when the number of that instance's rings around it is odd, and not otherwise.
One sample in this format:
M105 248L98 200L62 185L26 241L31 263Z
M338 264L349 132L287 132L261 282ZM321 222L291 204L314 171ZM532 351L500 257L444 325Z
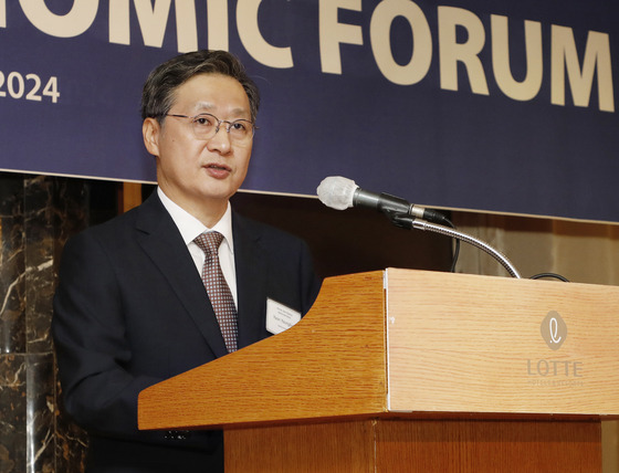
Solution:
M228 354L214 312L174 220L153 192L139 208L138 242L178 295L217 357Z

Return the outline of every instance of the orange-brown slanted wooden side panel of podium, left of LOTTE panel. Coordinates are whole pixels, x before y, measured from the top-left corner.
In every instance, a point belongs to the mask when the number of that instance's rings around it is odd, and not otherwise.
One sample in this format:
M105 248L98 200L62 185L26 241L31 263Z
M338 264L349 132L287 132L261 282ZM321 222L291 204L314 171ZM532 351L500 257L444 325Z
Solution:
M327 281L311 311L317 316L144 390L139 428L385 412L384 311L381 272Z

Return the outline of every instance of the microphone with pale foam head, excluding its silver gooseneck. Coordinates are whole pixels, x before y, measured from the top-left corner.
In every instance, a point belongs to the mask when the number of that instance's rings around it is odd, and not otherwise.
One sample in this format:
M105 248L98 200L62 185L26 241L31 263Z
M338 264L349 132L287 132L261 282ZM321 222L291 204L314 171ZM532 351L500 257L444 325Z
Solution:
M354 180L342 176L331 176L323 179L316 192L321 202L332 209L345 210L350 207L367 207L386 213L388 217L410 216L452 227L449 219L440 212L415 206L389 193L364 190Z

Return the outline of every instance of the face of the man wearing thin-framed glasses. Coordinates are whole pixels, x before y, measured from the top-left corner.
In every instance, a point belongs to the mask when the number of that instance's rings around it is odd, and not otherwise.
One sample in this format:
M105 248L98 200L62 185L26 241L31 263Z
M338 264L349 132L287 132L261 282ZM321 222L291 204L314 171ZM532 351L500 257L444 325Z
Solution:
M176 90L174 98L169 114L251 120L245 91L225 75L196 75ZM200 140L189 118L172 116L162 125L147 118L143 130L148 151L157 157L157 180L166 196L203 223L217 222L245 178L252 141L231 143L225 124L212 138Z

